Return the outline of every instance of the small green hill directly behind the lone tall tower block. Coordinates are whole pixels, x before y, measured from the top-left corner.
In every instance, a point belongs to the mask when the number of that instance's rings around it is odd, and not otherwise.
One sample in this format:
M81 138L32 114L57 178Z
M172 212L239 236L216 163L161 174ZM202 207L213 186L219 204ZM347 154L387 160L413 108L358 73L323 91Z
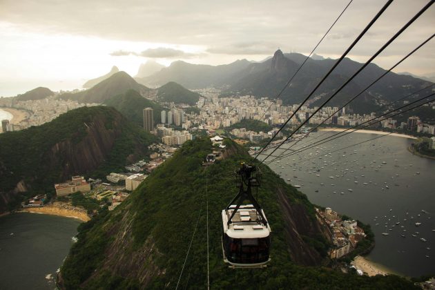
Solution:
M144 126L144 108L153 108L154 124L161 123L161 112L164 109L155 101L145 99L135 90L127 90L121 95L116 95L106 101L104 104L116 108L129 121Z

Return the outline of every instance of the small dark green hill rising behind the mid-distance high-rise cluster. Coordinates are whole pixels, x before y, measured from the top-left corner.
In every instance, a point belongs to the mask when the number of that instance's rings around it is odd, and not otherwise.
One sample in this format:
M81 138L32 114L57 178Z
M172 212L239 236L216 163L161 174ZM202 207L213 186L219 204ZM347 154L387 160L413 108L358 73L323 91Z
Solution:
M189 104L193 106L200 99L201 95L184 88L174 81L170 81L168 84L157 89L157 97L159 97L160 101L173 101L175 104Z

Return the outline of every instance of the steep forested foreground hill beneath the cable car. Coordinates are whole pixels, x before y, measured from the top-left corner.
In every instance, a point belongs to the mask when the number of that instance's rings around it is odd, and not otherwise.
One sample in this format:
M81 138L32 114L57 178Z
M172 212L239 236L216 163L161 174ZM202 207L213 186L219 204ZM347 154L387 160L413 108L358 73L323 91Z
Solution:
M226 140L224 160L204 168L202 161L210 152L209 139L186 142L114 211L101 211L81 224L78 242L61 267L59 286L175 289L198 222L179 287L205 289L208 207L212 289L414 287L396 276L369 278L319 267L329 242L313 205L266 166L258 198L271 224L272 261L265 269L229 269L222 261L221 211L237 192L233 171L251 157Z

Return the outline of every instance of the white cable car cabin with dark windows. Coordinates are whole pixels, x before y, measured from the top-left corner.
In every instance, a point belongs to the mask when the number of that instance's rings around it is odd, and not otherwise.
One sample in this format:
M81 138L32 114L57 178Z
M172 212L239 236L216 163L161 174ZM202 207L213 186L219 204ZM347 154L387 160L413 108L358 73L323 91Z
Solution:
M266 267L269 258L271 228L262 215L252 204L240 205L240 208L233 215L236 205L232 204L228 209L222 211L222 250L224 251L224 262L231 264L231 267L256 268ZM229 218L233 215L232 222Z

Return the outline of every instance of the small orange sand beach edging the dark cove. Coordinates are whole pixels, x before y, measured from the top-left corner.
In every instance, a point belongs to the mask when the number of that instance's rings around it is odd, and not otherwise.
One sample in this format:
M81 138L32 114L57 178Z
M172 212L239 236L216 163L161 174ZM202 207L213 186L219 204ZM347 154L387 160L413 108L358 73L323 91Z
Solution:
M72 206L66 202L53 202L47 206L30 207L21 209L20 211L27 211L28 213L43 213L46 215L60 215L66 218L76 218L83 222L90 220L86 209L78 206Z

